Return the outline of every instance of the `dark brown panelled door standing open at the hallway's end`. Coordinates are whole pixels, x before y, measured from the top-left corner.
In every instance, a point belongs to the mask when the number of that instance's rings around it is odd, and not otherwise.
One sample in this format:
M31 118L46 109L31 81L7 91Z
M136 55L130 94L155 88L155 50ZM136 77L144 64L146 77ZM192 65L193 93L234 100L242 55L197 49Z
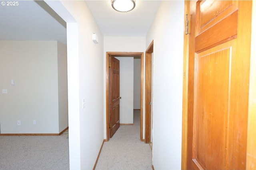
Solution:
M110 110L109 110L109 129L110 138L116 133L120 126L120 75L119 60L109 57L109 90L110 90Z

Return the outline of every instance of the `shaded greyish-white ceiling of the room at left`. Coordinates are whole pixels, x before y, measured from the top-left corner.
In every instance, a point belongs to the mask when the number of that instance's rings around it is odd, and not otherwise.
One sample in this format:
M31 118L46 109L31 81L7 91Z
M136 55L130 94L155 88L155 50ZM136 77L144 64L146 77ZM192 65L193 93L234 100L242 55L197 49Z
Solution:
M66 43L66 23L44 1L20 0L18 6L0 5L0 23L0 40Z

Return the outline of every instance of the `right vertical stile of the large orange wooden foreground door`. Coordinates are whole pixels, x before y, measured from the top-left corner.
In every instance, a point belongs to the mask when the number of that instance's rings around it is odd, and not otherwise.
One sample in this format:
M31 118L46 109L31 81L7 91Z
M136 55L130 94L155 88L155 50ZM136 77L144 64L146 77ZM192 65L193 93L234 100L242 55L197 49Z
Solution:
M248 122L248 93L250 71L251 8L252 1L238 1L238 34L236 57L232 59L230 86L230 113L233 113L233 125L230 129L230 154L227 169L246 169L246 141Z

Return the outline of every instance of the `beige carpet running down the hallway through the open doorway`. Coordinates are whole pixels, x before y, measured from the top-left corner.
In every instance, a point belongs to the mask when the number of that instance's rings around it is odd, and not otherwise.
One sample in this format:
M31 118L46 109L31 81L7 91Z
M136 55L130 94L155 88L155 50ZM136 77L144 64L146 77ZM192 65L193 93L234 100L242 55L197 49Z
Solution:
M152 170L150 145L140 141L140 111L134 111L134 125L120 125L104 142L95 170Z

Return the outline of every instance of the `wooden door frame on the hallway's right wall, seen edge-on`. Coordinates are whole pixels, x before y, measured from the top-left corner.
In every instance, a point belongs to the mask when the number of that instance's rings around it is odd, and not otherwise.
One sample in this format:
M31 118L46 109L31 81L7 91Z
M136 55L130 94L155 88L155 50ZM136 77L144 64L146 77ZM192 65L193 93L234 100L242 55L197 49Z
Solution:
M145 56L145 63L148 63L148 65L150 65L150 68L147 68L145 66L145 78L146 78L146 72L148 71L147 69L150 69L150 74L152 73L152 53L154 52L154 40L151 41L150 45L148 46L148 49L146 50L146 56ZM145 80L145 143L150 143L151 142L151 113L152 113L152 109L150 109L150 112L147 111L146 109L146 105L148 104L149 101L146 101L148 99L148 97L150 97L152 102L152 74L151 74L151 78L150 78L151 82L147 82ZM148 86L148 84L151 84L150 86ZM147 95L147 91L151 90L151 95L148 96Z

